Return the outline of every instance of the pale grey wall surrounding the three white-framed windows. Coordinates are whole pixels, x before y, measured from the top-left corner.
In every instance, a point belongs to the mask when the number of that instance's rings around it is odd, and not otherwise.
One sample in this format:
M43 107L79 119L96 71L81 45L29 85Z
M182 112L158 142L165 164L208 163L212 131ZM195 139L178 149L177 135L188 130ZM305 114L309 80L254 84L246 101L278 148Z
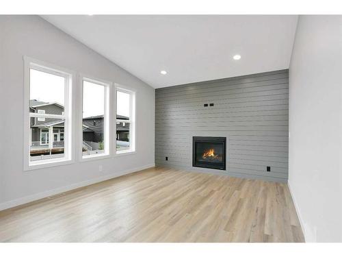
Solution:
M137 154L23 171L24 55L137 90ZM0 68L0 209L154 165L155 90L140 79L39 16L0 16Z

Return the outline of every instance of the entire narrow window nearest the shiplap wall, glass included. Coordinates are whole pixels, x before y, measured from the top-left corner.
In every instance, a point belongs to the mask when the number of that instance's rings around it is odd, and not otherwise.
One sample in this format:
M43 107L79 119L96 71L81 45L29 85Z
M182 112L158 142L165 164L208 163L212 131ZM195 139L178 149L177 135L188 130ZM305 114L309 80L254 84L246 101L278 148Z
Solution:
M116 88L116 152L135 151L135 93Z

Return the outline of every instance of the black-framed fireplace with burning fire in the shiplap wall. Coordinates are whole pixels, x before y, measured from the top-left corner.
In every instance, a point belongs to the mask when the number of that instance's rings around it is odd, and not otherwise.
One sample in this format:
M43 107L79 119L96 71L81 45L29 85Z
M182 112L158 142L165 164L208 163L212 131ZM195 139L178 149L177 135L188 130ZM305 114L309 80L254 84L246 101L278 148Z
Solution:
M226 138L194 136L192 138L192 166L226 169Z

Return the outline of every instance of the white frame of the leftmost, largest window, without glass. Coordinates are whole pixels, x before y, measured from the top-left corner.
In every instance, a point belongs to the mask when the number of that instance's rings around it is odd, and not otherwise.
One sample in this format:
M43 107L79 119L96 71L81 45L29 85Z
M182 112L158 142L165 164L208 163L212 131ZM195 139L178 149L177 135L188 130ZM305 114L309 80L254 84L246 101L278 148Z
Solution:
M64 69L54 64L42 62L34 58L23 56L24 60L24 136L23 136L23 154L24 154L24 171L32 169L42 169L45 167L57 166L60 164L68 164L74 162L73 158L73 117L72 117L72 97L73 97L73 78L75 73L68 69ZM38 112L29 112L29 86L30 86L30 69L42 71L53 75L65 77L64 84L64 114L42 114ZM30 118L50 118L64 120L64 157L52 158L45 160L30 160L31 147L31 130ZM51 140L50 135L49 140Z

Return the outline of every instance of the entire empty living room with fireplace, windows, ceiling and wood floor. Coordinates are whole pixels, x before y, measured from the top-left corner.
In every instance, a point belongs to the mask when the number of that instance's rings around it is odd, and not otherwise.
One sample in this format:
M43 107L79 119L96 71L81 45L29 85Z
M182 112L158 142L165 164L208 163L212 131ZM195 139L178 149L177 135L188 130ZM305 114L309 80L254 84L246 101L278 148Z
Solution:
M341 25L0 15L0 241L341 243Z

